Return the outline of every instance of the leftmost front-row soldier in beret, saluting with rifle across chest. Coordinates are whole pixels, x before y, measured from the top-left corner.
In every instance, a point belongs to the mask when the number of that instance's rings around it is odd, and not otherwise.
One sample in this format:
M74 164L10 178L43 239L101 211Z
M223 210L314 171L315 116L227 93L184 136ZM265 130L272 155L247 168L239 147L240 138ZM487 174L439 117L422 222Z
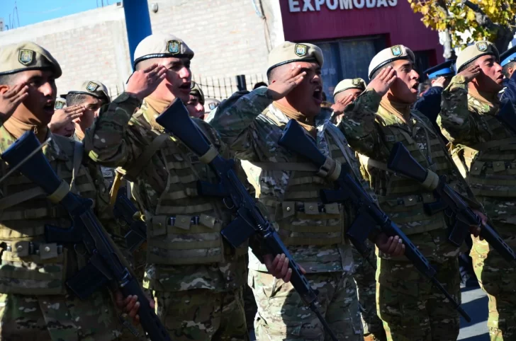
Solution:
M55 79L60 65L33 42L7 45L0 50L0 153L24 132L32 130L57 175L70 183L72 192L94 200L102 218L108 208L106 191L96 167L82 158L74 141L50 133L54 113ZM23 99L22 101L20 101ZM1 175L5 175L2 164ZM72 178L72 171L77 174ZM67 212L47 200L40 188L20 173L1 183L0 338L2 340L116 340L120 325L107 288L80 300L65 282L87 259L69 245L45 243L44 226L68 228ZM14 271L16 269L16 271ZM135 317L139 302L116 295L120 307Z

